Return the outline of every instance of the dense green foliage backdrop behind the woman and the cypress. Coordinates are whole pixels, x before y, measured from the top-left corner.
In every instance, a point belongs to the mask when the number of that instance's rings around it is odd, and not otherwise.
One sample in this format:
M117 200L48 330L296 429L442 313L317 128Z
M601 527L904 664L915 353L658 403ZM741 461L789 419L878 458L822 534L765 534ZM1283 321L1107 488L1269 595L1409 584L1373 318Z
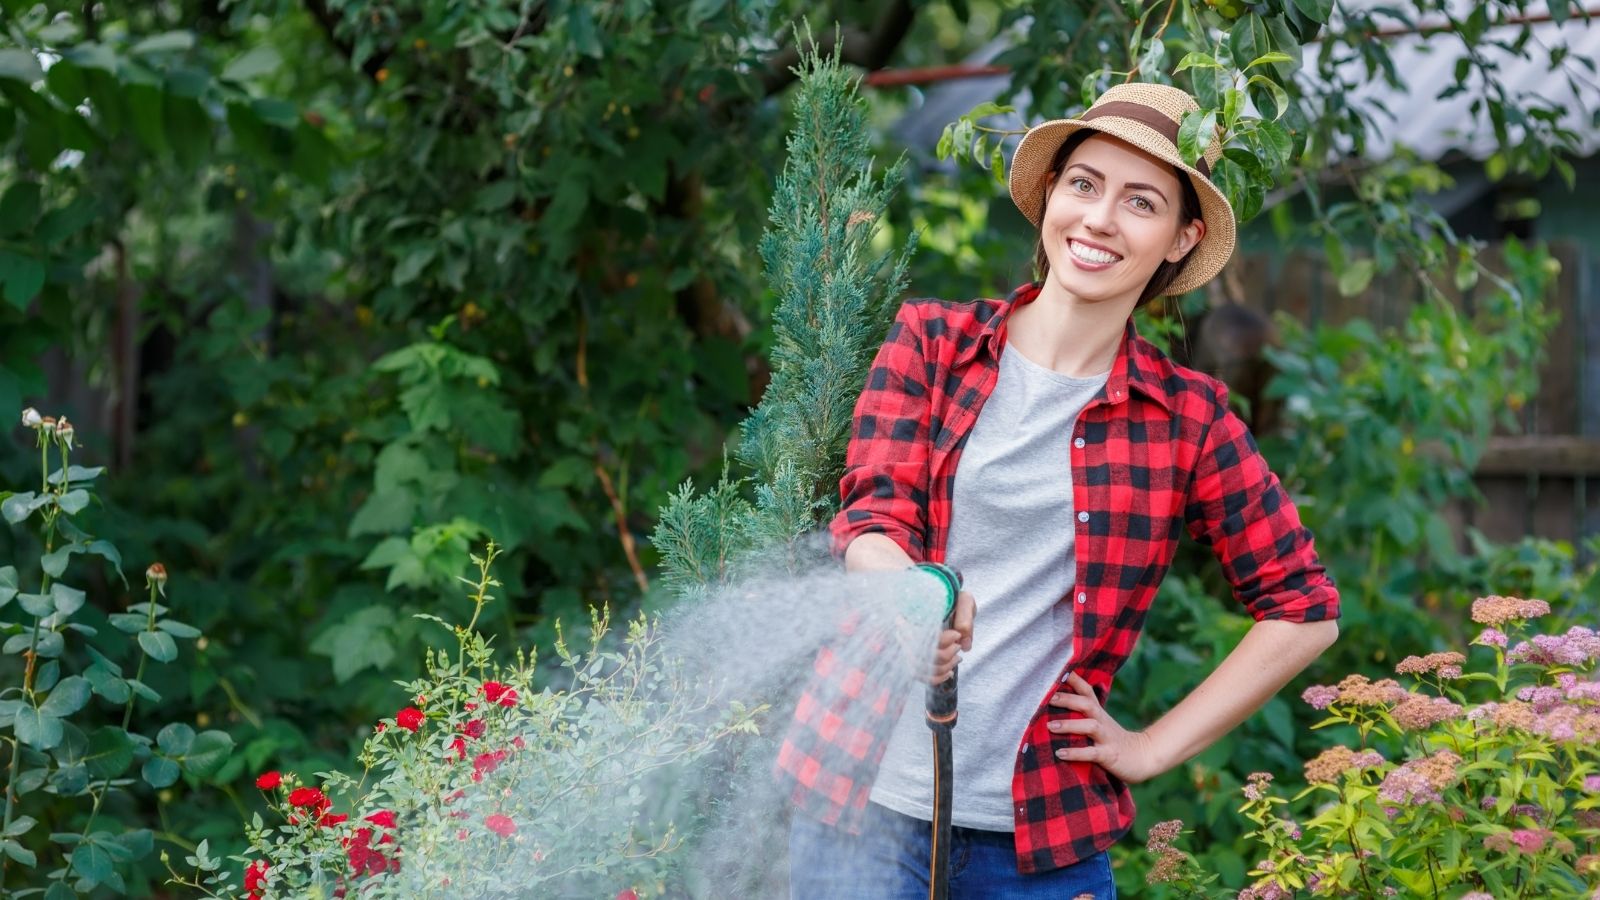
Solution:
M654 585L642 591L658 564L645 535L685 479L714 484L736 452L763 474L803 460L749 434L741 452L733 431L762 397L768 354L795 352L770 322L790 285L763 282L758 237L792 127L800 16L866 67L958 61L1014 29L1024 40L1000 59L1013 78L997 99L1027 88L1034 119L1080 109L1134 67L1174 80L1208 107L1186 135L1229 127L1218 181L1240 210L1272 187L1301 191L1314 216L1288 227L1350 272L1341 287L1395 267L1434 285L1491 277L1419 202L1442 183L1432 163L1402 157L1330 186L1328 149L1360 147L1371 112L1342 102L1354 85L1307 86L1294 70L1326 75L1354 54L1370 78L1398 86L1403 74L1366 40L1389 19L1342 10L1330 26L1326 0L0 10L0 416L51 397L45 412L78 421L86 456L110 464L94 533L130 565L163 560L173 605L206 634L155 687L237 745L210 788L130 814L173 847L237 842L258 770L349 767L371 722L405 701L395 681L419 669L427 639L411 613L466 612L450 597L474 543L507 548L507 601L485 625L506 644L547 644L557 617L662 602ZM1474 50L1510 40L1515 29L1490 26L1525 3L1451 18L1414 0L1403 13L1453 22L1440 51L1462 59L1462 90L1486 91L1501 141L1491 175L1573 178L1574 136L1547 104L1482 86L1488 62ZM1557 59L1552 78L1584 62ZM872 102L882 127L912 98ZM946 152L987 163L987 114L955 123ZM990 221L989 171L907 178L883 200L874 251L918 229L915 293L1019 280L1029 240ZM1571 548L1462 556L1440 536L1438 509L1470 495L1486 429L1504 397L1530 392L1550 327L1538 314L1546 258L1509 258L1477 320L1429 303L1394 333L1290 330L1275 359L1275 391L1304 402L1288 404L1301 412L1267 450L1307 501L1355 636L1315 676L1427 650L1480 591L1594 604ZM70 396L69 381L82 386ZM1440 455L1400 453L1408 440ZM16 447L0 448L0 484L22 484ZM826 477L794 496L816 484ZM26 570L26 541L0 533L0 559ZM101 575L91 602L138 599L117 585ZM1200 557L1162 604L1170 613L1152 617L1120 677L1125 722L1174 703L1248 625ZM1144 818L1200 826L1219 871L1242 873L1248 862L1229 855L1243 830L1229 817L1235 788L1254 769L1296 770L1318 746L1309 721L1275 700L1141 788ZM1139 865L1122 868L1130 887Z

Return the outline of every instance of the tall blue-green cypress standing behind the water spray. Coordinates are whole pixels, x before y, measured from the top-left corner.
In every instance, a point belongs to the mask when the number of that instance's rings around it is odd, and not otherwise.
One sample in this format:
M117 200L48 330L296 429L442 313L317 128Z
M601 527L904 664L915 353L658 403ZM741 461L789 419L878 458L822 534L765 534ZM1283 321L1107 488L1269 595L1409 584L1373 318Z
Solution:
M803 54L789 159L762 237L778 295L773 378L741 424L734 476L698 493L685 482L651 540L669 585L693 596L742 560L798 564L798 538L837 511L850 418L874 351L906 288L915 235L874 250L904 160L874 176L859 78L835 53Z

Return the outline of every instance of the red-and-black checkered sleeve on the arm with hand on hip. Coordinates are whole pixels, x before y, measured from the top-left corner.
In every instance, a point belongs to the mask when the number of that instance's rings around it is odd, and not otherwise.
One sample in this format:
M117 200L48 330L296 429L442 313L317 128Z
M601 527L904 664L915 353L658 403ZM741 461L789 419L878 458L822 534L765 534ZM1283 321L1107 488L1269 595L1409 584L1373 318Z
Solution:
M1213 413L1184 509L1189 533L1216 552L1256 621L1339 618L1339 593L1310 532L1221 384Z

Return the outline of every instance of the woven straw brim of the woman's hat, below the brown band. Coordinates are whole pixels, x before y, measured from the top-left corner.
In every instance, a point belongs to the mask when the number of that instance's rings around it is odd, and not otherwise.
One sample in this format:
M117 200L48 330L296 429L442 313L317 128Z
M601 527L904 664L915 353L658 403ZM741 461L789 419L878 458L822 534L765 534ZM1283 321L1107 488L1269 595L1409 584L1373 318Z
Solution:
M1016 146L1016 154L1011 155L1010 176L1011 202L1027 216L1027 221L1034 223L1034 227L1038 227L1038 219L1045 213L1045 178L1050 175L1050 162L1056 157L1061 144L1082 128L1126 141L1189 175L1189 181L1195 186L1195 194L1200 197L1200 218L1205 219L1205 237L1189 251L1189 261L1184 264L1182 272L1179 272L1178 280L1165 293L1187 293L1214 279L1234 255L1238 231L1234 221L1234 208L1227 203L1227 197L1218 191L1216 184L1211 184L1210 178L1182 162L1178 155L1178 147L1166 136L1133 119L1122 119L1118 115L1102 115L1091 122L1056 119L1030 128ZM1205 157L1206 163L1214 167L1222 157L1221 146L1213 141L1206 147Z

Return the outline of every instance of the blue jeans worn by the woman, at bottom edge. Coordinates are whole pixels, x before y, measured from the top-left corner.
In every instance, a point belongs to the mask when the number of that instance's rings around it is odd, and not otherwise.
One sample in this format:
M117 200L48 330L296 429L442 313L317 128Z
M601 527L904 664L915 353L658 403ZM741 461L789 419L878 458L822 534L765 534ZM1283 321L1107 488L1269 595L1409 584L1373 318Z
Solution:
M930 823L867 804L861 834L795 812L789 826L790 900L926 900ZM950 900L1115 900L1110 858L1099 852L1067 868L1016 871L1010 831L954 828Z

